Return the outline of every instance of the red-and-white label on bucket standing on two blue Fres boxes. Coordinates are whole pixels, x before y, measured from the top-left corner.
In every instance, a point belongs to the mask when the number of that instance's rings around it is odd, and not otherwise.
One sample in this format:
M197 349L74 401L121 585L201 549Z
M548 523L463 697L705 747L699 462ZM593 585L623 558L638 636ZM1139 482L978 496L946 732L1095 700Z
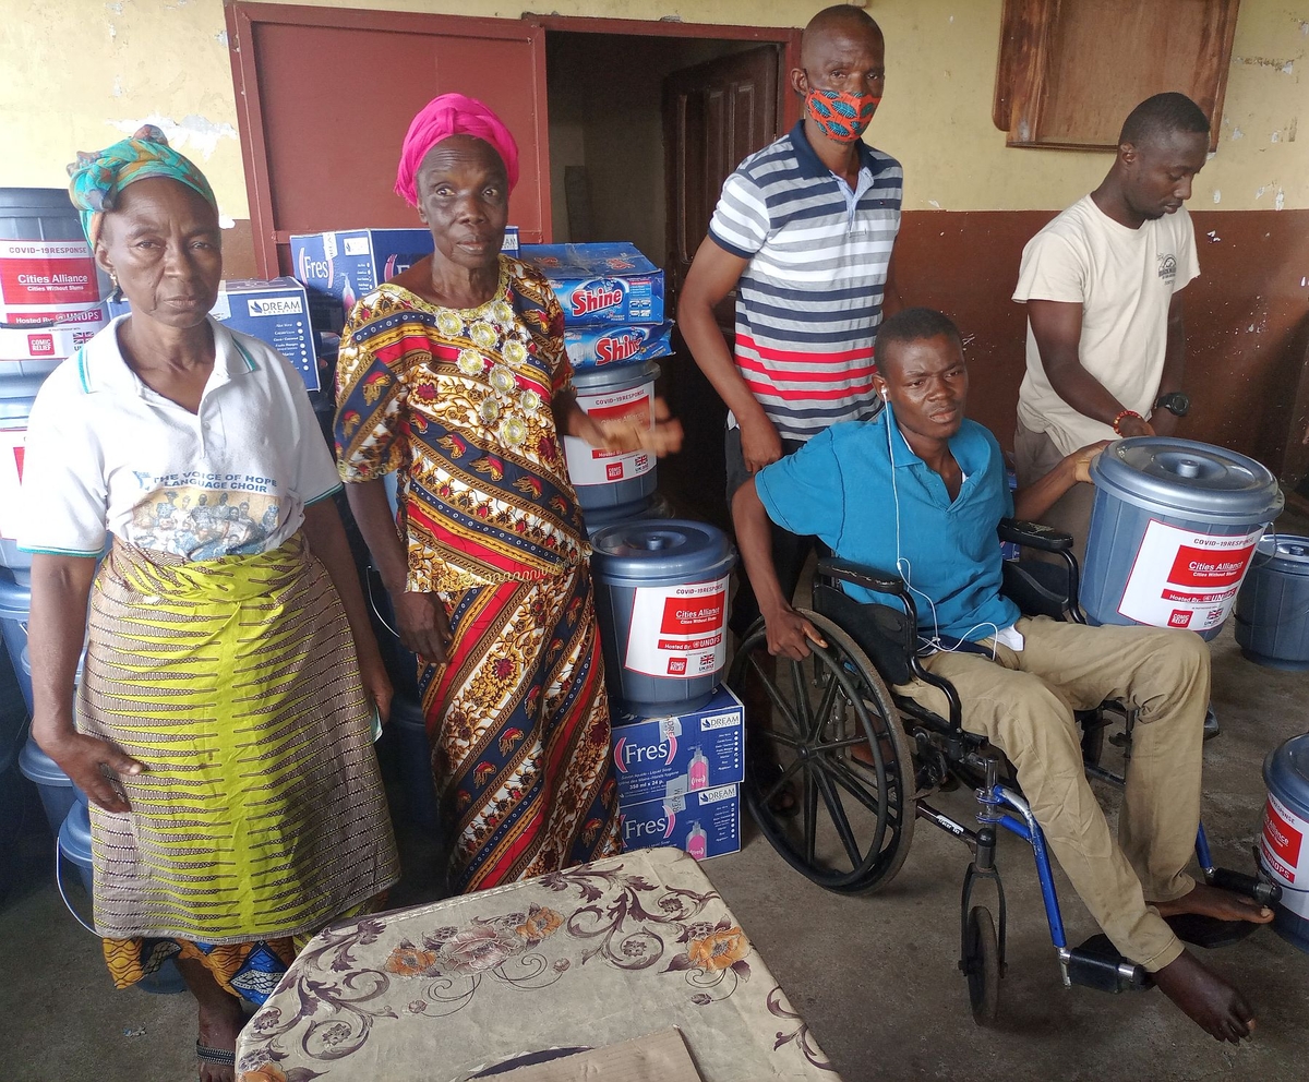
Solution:
M728 578L637 586L623 666L645 676L691 680L726 663Z

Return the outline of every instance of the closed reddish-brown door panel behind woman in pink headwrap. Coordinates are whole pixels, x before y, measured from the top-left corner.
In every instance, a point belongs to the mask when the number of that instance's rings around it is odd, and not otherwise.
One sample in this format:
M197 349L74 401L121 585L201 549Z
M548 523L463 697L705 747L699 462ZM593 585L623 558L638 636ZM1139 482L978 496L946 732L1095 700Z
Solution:
M513 132L509 222L525 243L550 241L543 27L230 0L226 14L260 275L289 271L292 233L419 225L393 191L401 143L448 90L484 101Z

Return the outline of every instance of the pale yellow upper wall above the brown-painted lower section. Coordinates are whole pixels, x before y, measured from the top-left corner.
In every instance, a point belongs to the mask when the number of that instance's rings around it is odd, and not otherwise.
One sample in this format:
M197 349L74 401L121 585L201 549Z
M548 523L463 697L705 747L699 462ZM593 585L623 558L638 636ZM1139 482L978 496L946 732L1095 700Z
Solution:
M323 0L517 18L495 0ZM59 186L76 149L154 119L247 217L221 0L5 0L0 187ZM802 25L812 0L551 0L559 14ZM911 209L1054 209L1100 179L1105 154L1012 150L990 119L1001 0L870 0L888 38L870 137L906 169ZM1309 208L1309 0L1242 0L1221 144L1192 208ZM1299 132L1304 122L1305 131Z

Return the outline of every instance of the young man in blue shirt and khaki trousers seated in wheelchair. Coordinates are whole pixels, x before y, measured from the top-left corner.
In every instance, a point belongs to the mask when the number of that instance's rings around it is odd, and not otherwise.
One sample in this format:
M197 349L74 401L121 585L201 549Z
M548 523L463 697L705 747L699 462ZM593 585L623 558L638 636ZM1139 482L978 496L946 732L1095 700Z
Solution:
M1000 593L1001 518L1039 521L1103 445L1069 455L1011 498L995 437L965 419L958 330L929 309L882 323L870 421L835 425L761 470L737 492L737 540L766 623L768 652L826 648L778 585L770 521L817 535L846 560L894 568L919 616L922 666L958 691L963 729L1013 763L1046 841L1119 952L1220 1040L1254 1028L1241 994L1187 951L1164 917L1198 913L1263 924L1271 909L1198 883L1186 867L1200 811L1210 654L1194 633L1025 618ZM859 601L881 601L857 586ZM897 688L944 713L927 683ZM1107 699L1138 710L1115 840L1086 781L1075 710Z

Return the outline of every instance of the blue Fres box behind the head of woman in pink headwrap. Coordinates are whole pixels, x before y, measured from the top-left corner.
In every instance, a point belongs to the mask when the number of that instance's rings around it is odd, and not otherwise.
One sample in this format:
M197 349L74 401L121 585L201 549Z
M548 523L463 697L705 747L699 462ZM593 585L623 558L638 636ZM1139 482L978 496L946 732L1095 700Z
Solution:
M425 229L336 229L291 238L296 277L309 290L314 330L340 334L355 301L432 254ZM518 226L504 230L501 251L518 254Z

